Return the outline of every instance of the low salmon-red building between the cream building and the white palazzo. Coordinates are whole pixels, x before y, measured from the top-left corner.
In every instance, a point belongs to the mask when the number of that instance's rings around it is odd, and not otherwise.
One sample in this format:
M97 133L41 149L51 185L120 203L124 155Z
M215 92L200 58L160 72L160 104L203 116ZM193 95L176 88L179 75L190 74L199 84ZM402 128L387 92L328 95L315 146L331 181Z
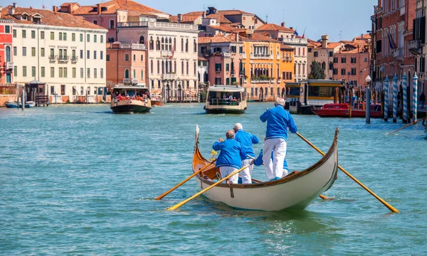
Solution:
M107 44L107 87L138 85L147 87L145 45L139 43Z

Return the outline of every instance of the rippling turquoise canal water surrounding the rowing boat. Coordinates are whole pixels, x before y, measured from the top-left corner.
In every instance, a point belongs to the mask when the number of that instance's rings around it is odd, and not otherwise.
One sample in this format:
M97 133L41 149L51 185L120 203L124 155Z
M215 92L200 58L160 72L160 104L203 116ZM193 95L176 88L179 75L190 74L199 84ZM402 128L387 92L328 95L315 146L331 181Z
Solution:
M325 193L334 200L299 212L233 210L203 197L164 210L196 193L195 181L153 200L191 174L196 124L208 158L236 122L263 138L266 107L231 116L206 115L198 104L129 115L107 105L0 109L0 255L427 254L421 125L385 137L402 124L294 115L300 134L325 152L339 127L339 164L399 214L341 171ZM290 135L291 170L320 158Z

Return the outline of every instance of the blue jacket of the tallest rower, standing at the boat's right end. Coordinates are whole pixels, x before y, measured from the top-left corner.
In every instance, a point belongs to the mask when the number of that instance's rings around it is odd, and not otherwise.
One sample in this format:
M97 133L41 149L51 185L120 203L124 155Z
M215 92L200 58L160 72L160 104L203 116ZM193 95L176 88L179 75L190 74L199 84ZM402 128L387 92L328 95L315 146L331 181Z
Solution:
M288 127L290 132L297 132L297 126L292 116L283 106L278 105L271 110L265 110L260 119L262 122L267 122L265 139L285 139L288 141Z

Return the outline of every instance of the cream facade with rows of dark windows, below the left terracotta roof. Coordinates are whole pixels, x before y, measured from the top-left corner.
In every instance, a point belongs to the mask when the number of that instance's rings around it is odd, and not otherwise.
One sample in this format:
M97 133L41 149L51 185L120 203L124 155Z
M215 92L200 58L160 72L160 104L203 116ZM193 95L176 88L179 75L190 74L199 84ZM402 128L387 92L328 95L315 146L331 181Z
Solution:
M105 36L107 31L22 23L16 23L14 30L16 30L16 38L13 38L14 47L16 47L14 56L16 82L26 83L36 79L48 84L47 93L49 95L56 93L63 96L82 95L82 92L83 95L86 95L87 91L88 95L93 95L95 87L105 87ZM26 38L23 38L22 31L26 31ZM43 33L44 38L41 38ZM51 40L51 33L54 35L53 40ZM66 41L59 40L59 33L67 34ZM73 33L75 33L75 41L73 41ZM34 38L32 38L33 34ZM83 36L82 41L80 41L80 35ZM89 36L89 41L87 36ZM94 42L95 36L96 43ZM26 48L26 56L23 56L23 48ZM44 55L42 55L42 49L44 49ZM50 60L51 49L53 49L54 60ZM66 50L68 60L63 62L58 60L60 49ZM71 60L73 50L77 57L76 61ZM83 58L81 58L80 51L83 51ZM24 74L24 67L26 74ZM52 68L53 74L51 74ZM61 68L63 70L62 78L60 78ZM65 90L61 90L61 85L65 86ZM73 97L70 97L70 101L73 101Z

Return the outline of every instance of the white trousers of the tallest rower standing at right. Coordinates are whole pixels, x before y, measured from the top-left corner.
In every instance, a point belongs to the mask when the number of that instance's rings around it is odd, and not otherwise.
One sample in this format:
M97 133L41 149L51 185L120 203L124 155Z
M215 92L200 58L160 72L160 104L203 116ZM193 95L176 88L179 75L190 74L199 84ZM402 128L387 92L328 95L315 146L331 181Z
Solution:
M283 161L286 157L285 139L267 139L263 147L263 162L265 174L269 180L282 178L288 175L287 170L283 170ZM273 161L271 161L271 151L273 151Z

